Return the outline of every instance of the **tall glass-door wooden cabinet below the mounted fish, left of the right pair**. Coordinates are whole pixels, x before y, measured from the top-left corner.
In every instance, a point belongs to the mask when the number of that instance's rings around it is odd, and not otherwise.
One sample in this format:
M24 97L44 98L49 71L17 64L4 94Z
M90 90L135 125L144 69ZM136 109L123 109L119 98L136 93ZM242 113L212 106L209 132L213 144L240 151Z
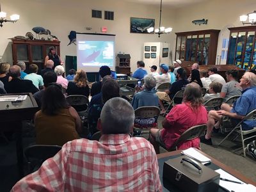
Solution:
M220 30L187 31L175 33L175 60L198 61L199 65L215 65Z

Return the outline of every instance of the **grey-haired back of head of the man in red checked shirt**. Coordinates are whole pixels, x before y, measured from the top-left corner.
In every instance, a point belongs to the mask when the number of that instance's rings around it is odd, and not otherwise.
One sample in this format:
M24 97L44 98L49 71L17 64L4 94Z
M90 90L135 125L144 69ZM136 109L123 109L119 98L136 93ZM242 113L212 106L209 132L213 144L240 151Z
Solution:
M134 123L134 109L121 97L109 99L100 113L103 134L128 134Z

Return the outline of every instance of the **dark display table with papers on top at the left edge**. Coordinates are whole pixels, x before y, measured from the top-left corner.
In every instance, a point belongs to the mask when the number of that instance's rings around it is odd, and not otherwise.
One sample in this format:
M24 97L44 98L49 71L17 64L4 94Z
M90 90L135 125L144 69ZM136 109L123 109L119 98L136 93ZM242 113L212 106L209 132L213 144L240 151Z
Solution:
M17 164L20 177L23 177L23 145L22 145L22 120L31 120L38 111L38 106L31 93L15 93L6 95L28 95L26 100L1 101L0 102L0 124L8 125L8 131L13 127L17 134L16 152ZM2 96L6 96L2 95ZM1 96L0 96L1 97ZM11 126L10 126L11 125ZM3 129L1 130L3 131Z

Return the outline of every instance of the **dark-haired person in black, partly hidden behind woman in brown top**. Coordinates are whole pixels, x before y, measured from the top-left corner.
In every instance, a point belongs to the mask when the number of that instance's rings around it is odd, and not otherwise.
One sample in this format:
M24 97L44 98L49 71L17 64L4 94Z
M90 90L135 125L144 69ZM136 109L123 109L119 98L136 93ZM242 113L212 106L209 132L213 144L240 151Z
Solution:
M38 105L38 108L41 109L42 106L42 97L44 95L45 89L51 84L56 83L57 81L57 75L53 71L45 72L44 74L44 88L40 90L39 92L34 93L33 97L36 100L36 103Z

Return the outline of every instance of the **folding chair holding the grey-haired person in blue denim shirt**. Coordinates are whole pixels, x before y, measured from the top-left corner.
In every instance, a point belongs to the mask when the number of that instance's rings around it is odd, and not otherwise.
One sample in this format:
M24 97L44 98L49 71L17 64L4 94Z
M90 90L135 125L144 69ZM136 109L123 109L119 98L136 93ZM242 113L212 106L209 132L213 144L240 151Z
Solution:
M144 106L134 110L134 131L142 132L143 129L147 129L147 133L150 128L157 129L157 119L160 114L160 109L156 106ZM141 136L141 134L140 134Z

